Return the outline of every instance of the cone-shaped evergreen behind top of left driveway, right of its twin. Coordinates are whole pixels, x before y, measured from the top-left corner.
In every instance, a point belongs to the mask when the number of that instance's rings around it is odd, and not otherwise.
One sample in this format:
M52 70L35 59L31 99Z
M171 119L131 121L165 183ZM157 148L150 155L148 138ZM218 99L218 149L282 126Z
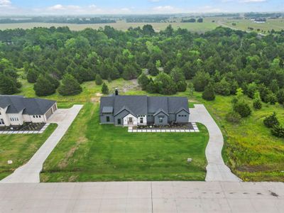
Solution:
M62 77L62 84L58 88L58 92L64 96L80 94L82 87L75 77L67 73Z

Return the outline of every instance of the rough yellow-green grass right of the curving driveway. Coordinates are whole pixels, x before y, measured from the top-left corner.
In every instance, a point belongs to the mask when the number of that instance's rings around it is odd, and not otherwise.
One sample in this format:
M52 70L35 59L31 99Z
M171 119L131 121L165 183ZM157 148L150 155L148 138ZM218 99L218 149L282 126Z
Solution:
M201 98L201 93L195 92L194 98L207 107L222 129L223 158L236 175L245 181L284 181L284 139L273 136L263 125L263 119L273 111L284 125L283 106L263 103L261 110L253 110L240 124L231 124L225 116L231 110L233 97L218 95L214 101L207 102ZM246 100L253 109L252 100Z

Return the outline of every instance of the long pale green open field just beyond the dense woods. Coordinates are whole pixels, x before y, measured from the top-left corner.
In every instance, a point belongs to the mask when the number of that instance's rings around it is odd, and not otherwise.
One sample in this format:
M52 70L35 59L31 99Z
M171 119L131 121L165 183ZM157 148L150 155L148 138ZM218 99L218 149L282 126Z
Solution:
M72 23L1 23L0 30L5 29L15 29L15 28L23 28L29 29L34 27L46 27L50 28L51 26L59 27L59 26L68 26L72 31L82 31L84 28L103 28L104 26L111 26L116 28L117 30L126 31L131 26L136 28L138 26L143 27L146 24L151 24L155 31L164 30L169 24L173 26L173 28L186 28L190 31L197 33L204 33L205 31L213 30L217 27L217 23L212 23L211 20L207 21L204 19L204 23L126 23L125 21L118 21L116 23L96 23L96 24L72 24Z

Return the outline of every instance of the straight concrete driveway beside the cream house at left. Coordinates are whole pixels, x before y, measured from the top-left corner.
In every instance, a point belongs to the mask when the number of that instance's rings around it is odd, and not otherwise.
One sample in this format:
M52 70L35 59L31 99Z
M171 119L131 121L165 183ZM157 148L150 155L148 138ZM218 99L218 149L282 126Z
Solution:
M53 151L62 136L72 124L82 105L74 105L70 109L58 109L55 114L50 116L48 123L58 124L58 128L50 135L48 140L43 143L33 157L20 168L16 169L14 173L4 178L0 182L40 182L40 171L43 169L43 163L48 155Z

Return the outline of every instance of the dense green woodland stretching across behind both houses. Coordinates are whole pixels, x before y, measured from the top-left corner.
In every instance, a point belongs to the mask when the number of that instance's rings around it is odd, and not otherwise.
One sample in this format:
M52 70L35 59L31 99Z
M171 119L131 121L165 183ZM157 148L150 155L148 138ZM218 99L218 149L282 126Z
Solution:
M142 89L160 94L185 91L191 80L200 92L229 95L241 87L248 95L258 91L263 102L283 99L283 33L261 38L222 27L204 34L172 26L155 32L151 25L128 31L52 27L0 31L0 41L1 94L18 92L16 71L23 69L35 90L47 80L53 84L44 94L64 91L60 84L68 81L80 92L78 84L98 76L139 77Z

